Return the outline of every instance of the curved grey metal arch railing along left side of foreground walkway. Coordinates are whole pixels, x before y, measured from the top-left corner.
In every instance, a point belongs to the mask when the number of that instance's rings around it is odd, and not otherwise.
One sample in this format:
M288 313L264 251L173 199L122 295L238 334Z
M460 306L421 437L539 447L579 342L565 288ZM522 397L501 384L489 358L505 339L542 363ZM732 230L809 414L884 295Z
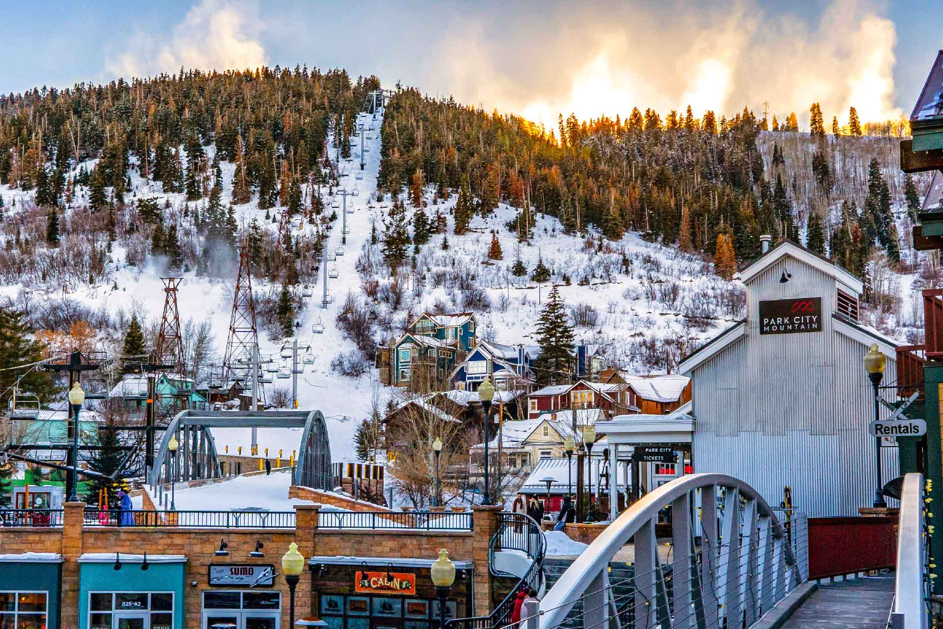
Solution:
M722 498L717 488L723 489ZM659 563L655 538L655 522L666 505L671 508L674 551L674 585L670 593L664 584L665 570ZM700 514L699 552L695 552L692 514ZM632 579L635 599L636 604L645 605L641 609L648 626L657 624L656 615L664 618L669 607L691 606L703 616L703 626L720 626L724 617L739 622L741 611L749 624L803 580L783 525L762 496L733 476L687 474L623 511L576 558L540 603L541 629L560 627L573 605L584 599L587 626L603 622L613 603L607 574L609 560L632 538L636 552ZM604 600L607 596L608 603ZM668 598L672 604L665 603Z

